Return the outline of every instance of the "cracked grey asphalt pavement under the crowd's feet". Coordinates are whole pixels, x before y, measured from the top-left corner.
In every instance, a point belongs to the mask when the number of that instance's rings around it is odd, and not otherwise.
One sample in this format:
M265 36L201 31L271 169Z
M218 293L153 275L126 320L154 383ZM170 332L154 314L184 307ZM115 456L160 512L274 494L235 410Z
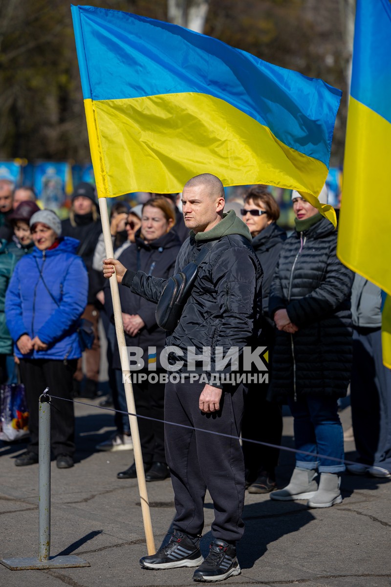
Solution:
M113 414L98 400L80 400L77 453L73 468L52 461L51 556L77 555L89 567L11 571L0 565L1 587L188 586L193 569L147 571L138 561L147 554L136 480L116 474L133 462L132 451L104 453L95 446L114 430ZM344 429L350 409L341 412ZM284 416L284 446L293 447L292 418ZM0 444L0 559L38 555L38 465L15 467L24 444ZM346 458L355 456L353 441ZM282 452L279 487L294 466ZM170 480L148 483L152 526L158 547L170 531L174 494ZM237 551L242 574L226 585L305 585L306 587L389 587L391 585L391 485L388 480L344 474L344 501L308 510L304 501L276 502L246 492L246 531ZM205 502L201 542L208 552L213 506Z

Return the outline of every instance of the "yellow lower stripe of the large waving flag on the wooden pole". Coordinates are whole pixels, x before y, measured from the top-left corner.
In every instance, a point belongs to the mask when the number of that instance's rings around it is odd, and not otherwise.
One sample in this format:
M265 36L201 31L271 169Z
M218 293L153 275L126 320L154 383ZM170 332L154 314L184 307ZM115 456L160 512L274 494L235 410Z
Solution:
M200 173L213 173L224 185L266 183L305 193L317 193L327 177L324 163L286 146L268 127L214 96L84 103L99 197L178 192Z

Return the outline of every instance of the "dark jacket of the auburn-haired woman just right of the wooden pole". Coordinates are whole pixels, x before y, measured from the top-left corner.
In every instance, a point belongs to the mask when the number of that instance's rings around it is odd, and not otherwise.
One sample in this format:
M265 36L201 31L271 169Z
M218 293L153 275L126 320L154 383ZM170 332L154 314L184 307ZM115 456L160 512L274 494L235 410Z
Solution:
M178 256L181 242L173 231L169 231L161 238L150 244L140 238L140 229L136 232L135 243L126 248L118 259L125 267L132 271L144 271L147 275L153 275L167 279L174 271L176 257ZM105 309L113 319L113 305L111 302L110 284L105 290ZM148 346L155 346L157 351L157 369L161 368L159 356L165 345L165 330L159 328L155 319L155 303L148 302L138 295L132 294L128 288L120 288L121 309L126 314L138 314L145 322L144 328L135 336L125 333L127 346L137 346L144 351L143 360L145 369L148 367ZM115 338L115 350L113 359L114 369L120 369L120 356L118 354L117 339Z

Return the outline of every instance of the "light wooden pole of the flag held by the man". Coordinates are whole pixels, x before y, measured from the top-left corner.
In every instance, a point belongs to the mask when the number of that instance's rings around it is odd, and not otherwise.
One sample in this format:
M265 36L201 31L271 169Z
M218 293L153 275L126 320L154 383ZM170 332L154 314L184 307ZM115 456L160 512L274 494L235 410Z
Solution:
M114 259L113 242L111 241L110 222L108 220L107 200L98 198L100 218L103 228L104 246L106 247L106 257ZM135 414L133 388L130 381L130 363L128 353L125 352L125 335L122 321L120 292L118 291L117 279L113 275L110 279L111 297L113 299L115 333L117 334L118 349L120 350L121 369L123 372L126 403L128 412ZM128 377L127 377L128 376ZM148 555L155 554L154 535L152 533L151 511L149 510L149 501L147 495L147 484L145 483L144 463L142 462L140 434L138 433L138 424L136 416L129 416L130 431L133 441L134 462L137 471L138 491L140 493L142 520L144 522L145 539L147 541Z

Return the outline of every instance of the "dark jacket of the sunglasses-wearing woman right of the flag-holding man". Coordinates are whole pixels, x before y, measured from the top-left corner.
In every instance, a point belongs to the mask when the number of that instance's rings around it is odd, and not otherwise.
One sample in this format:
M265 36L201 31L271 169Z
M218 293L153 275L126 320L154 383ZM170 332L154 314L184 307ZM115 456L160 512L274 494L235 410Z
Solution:
M273 280L274 271L283 248L284 241L287 239L287 233L283 228L277 226L276 222L271 222L268 227L264 228L256 237L253 238L253 249L257 255L263 269L262 282L262 335L261 338L265 344L271 343L270 338L274 338L274 322L269 318L269 292L271 281Z

